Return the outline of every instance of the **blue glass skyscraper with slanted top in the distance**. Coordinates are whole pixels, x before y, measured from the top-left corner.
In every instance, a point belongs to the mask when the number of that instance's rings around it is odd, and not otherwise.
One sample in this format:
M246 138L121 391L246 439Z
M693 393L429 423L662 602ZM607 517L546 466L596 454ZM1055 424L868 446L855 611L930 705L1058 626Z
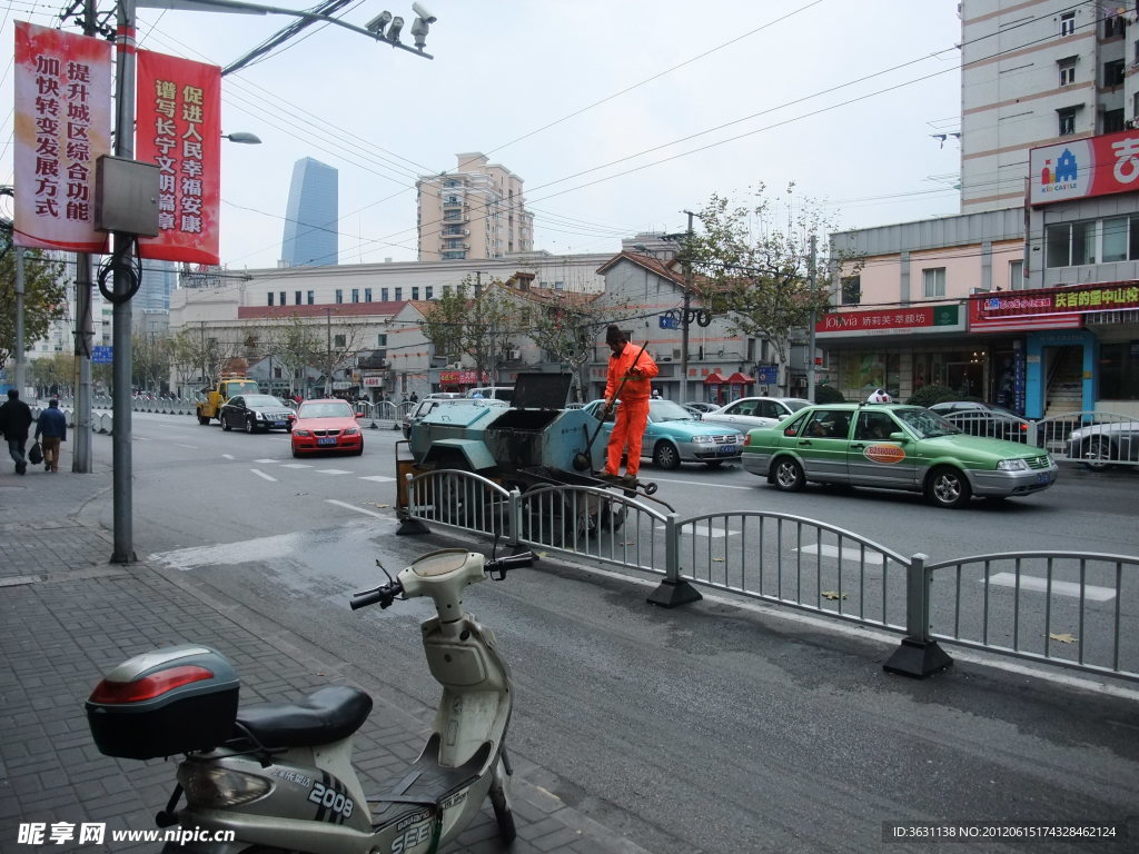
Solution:
M285 214L281 266L325 266L337 262L337 174L303 157L293 166Z

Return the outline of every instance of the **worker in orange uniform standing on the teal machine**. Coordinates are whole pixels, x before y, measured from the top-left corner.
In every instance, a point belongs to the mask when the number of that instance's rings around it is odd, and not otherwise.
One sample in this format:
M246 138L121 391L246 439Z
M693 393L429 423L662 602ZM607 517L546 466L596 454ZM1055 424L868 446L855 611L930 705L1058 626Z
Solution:
M603 418L621 401L617 407L617 420L609 434L609 445L606 451L605 470L599 477L606 481L623 482L632 485L637 482L640 470L641 438L645 436L645 425L648 422L648 400L652 392L650 380L659 368L653 356L644 347L634 347L625 340L625 336L615 326L605 330L605 343L613 355L609 356L609 372L605 384L605 409ZM621 454L629 449L625 461L625 476L621 477Z

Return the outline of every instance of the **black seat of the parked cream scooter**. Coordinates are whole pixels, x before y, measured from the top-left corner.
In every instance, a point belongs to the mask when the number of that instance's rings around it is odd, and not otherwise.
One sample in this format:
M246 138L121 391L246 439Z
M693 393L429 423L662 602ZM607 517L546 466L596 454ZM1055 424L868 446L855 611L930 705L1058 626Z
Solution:
M371 697L363 691L329 685L300 703L261 703L239 708L236 734L247 733L269 748L327 745L359 730L370 712Z

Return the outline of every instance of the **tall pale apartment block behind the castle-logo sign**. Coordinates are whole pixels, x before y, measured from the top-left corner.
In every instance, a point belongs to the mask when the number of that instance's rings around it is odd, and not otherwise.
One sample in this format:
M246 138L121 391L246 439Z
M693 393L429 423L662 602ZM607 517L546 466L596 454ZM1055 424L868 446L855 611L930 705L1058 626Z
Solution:
M1139 116L1136 0L964 0L961 213L1024 204L1029 150Z

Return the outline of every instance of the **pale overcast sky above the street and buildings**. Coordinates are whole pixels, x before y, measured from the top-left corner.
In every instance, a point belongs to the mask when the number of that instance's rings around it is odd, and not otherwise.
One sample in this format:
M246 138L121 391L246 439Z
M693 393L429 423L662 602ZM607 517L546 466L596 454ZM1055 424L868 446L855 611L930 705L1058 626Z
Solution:
M273 6L305 8L289 0ZM103 0L100 6L106 6ZM483 151L525 180L535 248L615 252L763 182L839 228L958 212L956 0L429 0L426 60L310 27L222 82L222 262L276 266L293 163L339 170L341 263L416 258L415 180ZM13 22L0 0L0 182L11 182ZM107 7L109 8L109 7ZM346 7L363 25L411 0ZM139 13L141 47L226 65L293 18ZM75 32L73 27L68 27Z

